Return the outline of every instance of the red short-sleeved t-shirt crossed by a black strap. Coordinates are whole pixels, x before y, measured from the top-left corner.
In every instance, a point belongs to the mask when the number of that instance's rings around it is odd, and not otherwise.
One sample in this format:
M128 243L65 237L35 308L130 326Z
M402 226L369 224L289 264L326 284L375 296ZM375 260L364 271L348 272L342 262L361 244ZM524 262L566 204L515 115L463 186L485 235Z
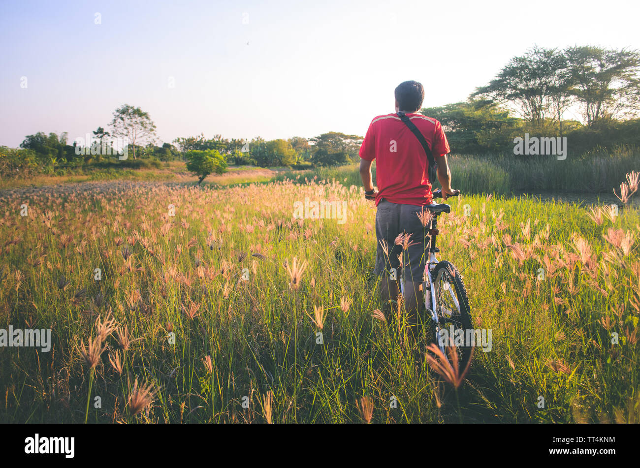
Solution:
M422 114L406 116L422 132L434 159L449 153L449 142L437 120ZM396 114L374 118L360 146L360 157L376 159L376 183L381 199L406 205L431 203L429 162L419 139L404 125Z

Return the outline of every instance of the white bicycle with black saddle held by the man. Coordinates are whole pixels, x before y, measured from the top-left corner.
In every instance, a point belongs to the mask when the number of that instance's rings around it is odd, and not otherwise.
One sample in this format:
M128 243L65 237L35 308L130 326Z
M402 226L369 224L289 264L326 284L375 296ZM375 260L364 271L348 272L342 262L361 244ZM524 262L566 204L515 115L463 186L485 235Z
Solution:
M458 194L451 196L458 196ZM440 189L434 191L433 198L442 198L442 191ZM468 343L470 337L467 336L467 330L473 330L467 290L455 265L446 260L438 261L435 255L440 252L440 249L436 247L436 237L439 233L438 216L450 213L451 206L446 203L432 203L425 205L424 208L431 212L431 229L429 229L429 258L425 262L425 280L422 283L422 291L424 292L422 314L423 316L431 315L431 329L438 348L445 357L447 356L445 345L449 345L449 340L444 339L445 334L441 336L441 331L446 329L451 339L462 334L464 345L458 346L457 350L460 368L464 369L472 351L472 347ZM404 269L400 278L400 290L404 294ZM427 291L431 292L430 308L427 306ZM453 336L451 336L452 334Z

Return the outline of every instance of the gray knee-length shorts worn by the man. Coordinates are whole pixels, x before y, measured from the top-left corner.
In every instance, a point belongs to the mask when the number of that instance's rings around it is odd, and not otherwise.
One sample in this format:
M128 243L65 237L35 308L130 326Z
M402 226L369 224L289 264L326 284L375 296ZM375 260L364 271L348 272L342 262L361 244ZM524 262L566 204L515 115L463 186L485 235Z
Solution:
M378 212L376 212L376 240L378 241L376 274L380 275L383 272L390 274L391 269L394 268L397 272L397 279L400 279L398 256L402 253L402 247L396 246L395 241L396 237L404 232L411 235L410 242L415 242L413 246L404 251L404 278L406 281L412 279L413 283L424 281L424 265L428 256L426 247L429 246L431 222L428 222L427 226L422 226L417 215L421 211L422 207L391 203L385 199L381 199L378 203ZM381 240L387 242L388 256L380 245Z

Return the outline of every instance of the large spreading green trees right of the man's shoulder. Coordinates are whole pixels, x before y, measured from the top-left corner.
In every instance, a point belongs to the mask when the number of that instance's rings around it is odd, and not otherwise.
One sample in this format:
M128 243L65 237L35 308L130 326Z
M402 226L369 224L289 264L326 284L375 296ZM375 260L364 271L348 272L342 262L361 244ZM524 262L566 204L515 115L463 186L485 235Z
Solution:
M640 53L532 47L466 102L428 107L453 153L513 150L513 138L567 137L572 153L640 144Z

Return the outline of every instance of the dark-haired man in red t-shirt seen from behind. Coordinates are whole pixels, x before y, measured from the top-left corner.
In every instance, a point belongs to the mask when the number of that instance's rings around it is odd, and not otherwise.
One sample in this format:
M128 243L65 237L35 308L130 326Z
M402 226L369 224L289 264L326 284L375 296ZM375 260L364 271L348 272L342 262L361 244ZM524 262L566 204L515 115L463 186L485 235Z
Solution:
M423 116L418 111L424 100L424 88L416 81L405 81L395 91L396 113L403 112L420 130L438 164L438 180L442 197L449 198L460 191L451 188L451 171L447 162L449 142L440 122ZM376 273L382 274L381 294L385 302L397 300L400 295L399 254L403 246L396 245L397 236L410 235L404 251L404 304L412 332L417 331L417 310L422 305L422 281L426 237L429 223L423 225L418 216L424 205L431 203L431 180L427 155L419 139L396 114L377 116L360 146L360 176L367 198L375 199L376 238L378 240ZM371 182L371 164L376 160L378 190ZM385 253L385 250L388 252ZM396 269L396 279L391 269ZM429 296L428 296L429 297Z

